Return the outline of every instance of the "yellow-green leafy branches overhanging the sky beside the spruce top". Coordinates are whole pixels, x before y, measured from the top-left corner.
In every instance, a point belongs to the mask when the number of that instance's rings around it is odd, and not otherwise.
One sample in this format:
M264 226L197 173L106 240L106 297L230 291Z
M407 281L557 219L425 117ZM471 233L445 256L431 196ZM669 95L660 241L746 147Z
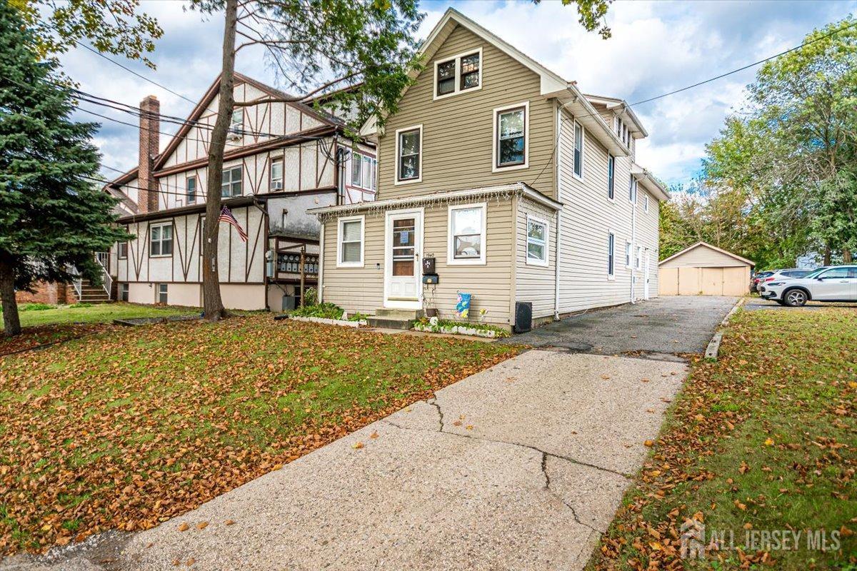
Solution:
M87 39L100 52L139 59L154 68L146 54L164 32L153 17L137 12L140 0L8 1L33 29L39 57L68 51Z

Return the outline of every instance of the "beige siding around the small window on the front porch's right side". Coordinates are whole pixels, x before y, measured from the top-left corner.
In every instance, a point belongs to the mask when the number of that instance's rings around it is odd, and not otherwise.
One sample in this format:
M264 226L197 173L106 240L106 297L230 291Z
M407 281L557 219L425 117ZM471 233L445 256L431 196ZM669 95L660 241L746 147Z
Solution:
M527 215L548 223L548 265L527 264ZM556 212L530 199L518 200L515 252L515 300L531 301L533 318L554 315L556 277Z

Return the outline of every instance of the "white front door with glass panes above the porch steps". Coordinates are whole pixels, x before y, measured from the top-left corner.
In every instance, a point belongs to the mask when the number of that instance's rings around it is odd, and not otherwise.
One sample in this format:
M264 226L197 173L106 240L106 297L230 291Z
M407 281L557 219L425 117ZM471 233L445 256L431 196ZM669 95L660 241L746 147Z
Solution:
M387 212L384 238L384 306L420 309L423 211Z

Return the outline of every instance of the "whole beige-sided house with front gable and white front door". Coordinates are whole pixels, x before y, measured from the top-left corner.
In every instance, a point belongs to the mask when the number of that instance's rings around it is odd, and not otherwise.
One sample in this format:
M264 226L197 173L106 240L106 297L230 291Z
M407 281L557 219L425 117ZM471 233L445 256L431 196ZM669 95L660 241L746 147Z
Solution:
M538 323L656 295L668 194L634 162L647 133L625 102L584 95L454 9L421 52L399 111L363 127L376 200L311 210L323 299L454 318L461 292L470 320L512 326L520 302Z

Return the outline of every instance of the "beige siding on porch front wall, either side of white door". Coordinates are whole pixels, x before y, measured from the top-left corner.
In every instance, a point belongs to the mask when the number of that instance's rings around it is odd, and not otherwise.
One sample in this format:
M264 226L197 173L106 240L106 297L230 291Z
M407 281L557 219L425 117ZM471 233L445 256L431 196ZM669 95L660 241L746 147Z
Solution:
M472 202L482 202L474 199ZM440 283L432 293L423 286L423 306L434 306L441 318L454 318L458 291L472 294L470 321L509 324L512 279L512 201L488 200L485 236L486 264L446 265L448 216L446 205L427 205L423 212L423 257L434 254ZM395 211L395 210L391 210ZM351 215L350 215L351 216ZM348 312L374 314L384 306L385 213L366 214L362 268L336 267L338 221L325 222L324 300ZM434 301L434 303L432 303ZM481 317L482 309L485 314Z

